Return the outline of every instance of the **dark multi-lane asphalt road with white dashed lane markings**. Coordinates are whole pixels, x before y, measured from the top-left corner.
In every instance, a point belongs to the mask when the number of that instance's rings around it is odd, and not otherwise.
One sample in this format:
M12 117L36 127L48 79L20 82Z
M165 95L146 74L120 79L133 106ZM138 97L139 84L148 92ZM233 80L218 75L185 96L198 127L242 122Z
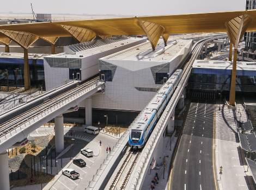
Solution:
M215 190L214 104L191 103L174 160L170 189Z

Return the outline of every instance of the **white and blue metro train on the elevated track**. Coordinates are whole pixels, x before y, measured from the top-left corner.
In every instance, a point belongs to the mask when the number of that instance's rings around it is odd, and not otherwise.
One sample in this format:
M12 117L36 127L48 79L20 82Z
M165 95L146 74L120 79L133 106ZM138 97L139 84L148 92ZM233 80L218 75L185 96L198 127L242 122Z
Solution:
M169 77L166 83L160 88L153 99L144 110L139 113L135 122L132 123L129 135L129 145L132 148L141 149L148 140L151 131L161 116L182 74L182 69L176 71Z

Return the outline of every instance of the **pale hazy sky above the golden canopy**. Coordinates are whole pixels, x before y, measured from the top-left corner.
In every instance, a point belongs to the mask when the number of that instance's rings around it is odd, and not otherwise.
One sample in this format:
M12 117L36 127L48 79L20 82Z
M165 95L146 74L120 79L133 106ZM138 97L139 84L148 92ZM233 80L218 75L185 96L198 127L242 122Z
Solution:
M245 10L246 0L1 0L0 12L171 15Z

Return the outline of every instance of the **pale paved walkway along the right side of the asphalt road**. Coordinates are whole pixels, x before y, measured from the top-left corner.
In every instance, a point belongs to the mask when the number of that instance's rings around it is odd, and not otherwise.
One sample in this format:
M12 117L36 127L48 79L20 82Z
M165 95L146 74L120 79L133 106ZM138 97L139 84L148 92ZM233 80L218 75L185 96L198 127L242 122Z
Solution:
M247 184L248 176L246 162L241 154L239 140L236 134L235 116L241 115L241 121L246 121L245 109L237 104L235 110L221 104L221 110L216 106L216 173L220 190L225 189L251 189ZM222 174L219 169L222 166ZM249 185L251 186L251 185Z

